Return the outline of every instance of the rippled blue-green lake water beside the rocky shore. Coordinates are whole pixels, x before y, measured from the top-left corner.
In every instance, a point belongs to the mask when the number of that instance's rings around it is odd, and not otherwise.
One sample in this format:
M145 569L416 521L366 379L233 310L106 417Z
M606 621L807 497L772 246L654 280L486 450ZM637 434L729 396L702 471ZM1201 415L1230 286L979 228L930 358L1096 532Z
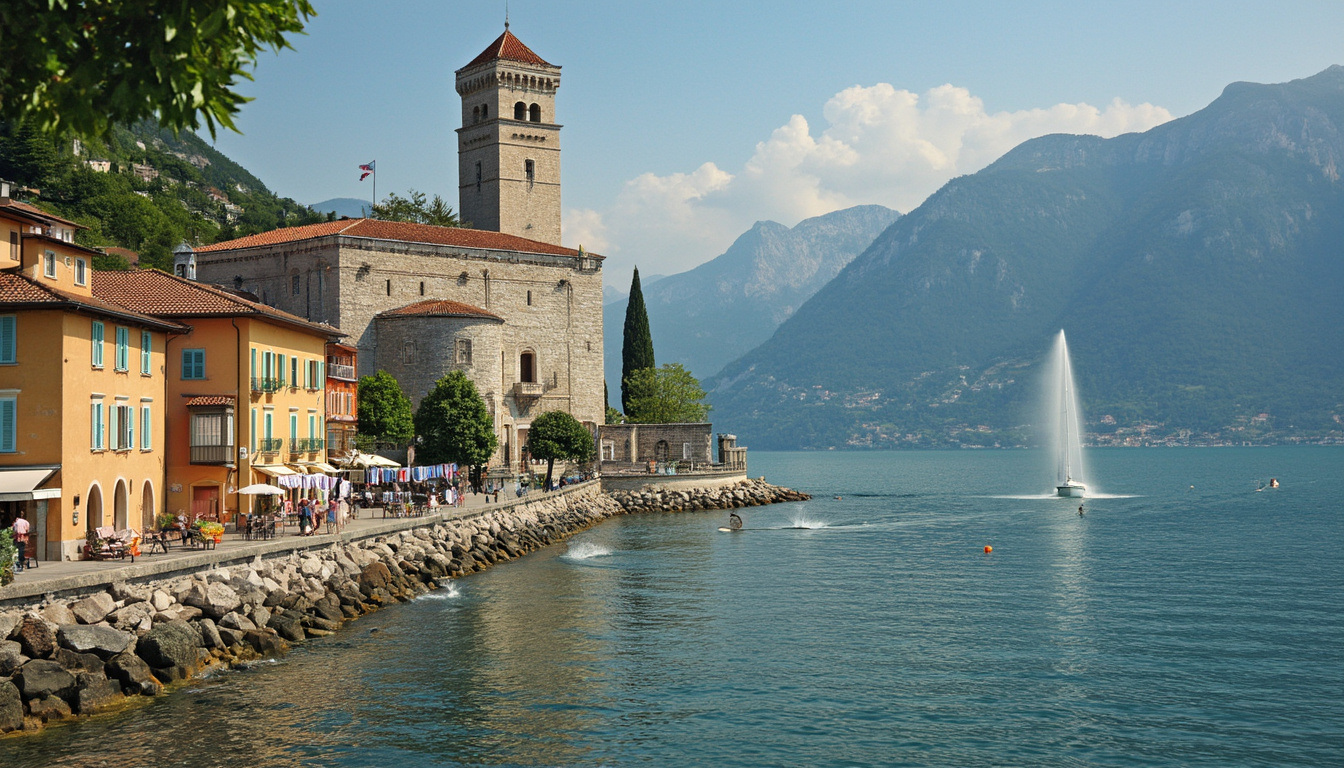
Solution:
M1344 449L1091 451L1085 516L1032 452L750 461L816 499L614 519L0 764L1344 764Z

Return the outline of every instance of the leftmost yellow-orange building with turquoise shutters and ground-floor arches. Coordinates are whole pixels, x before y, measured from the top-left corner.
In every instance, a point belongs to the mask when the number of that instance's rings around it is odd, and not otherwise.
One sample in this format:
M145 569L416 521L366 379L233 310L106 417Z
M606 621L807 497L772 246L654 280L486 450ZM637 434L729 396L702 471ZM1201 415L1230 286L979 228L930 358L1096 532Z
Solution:
M168 339L187 328L91 292L77 225L0 196L0 527L73 560L99 526L145 530L164 495Z

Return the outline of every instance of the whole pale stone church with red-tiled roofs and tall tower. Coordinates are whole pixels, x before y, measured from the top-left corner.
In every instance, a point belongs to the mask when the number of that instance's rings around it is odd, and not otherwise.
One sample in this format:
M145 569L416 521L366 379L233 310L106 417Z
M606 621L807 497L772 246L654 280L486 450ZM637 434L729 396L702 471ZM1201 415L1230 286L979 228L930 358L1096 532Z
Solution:
M359 375L391 373L417 405L464 371L493 414L496 467L516 465L547 410L595 434L602 257L559 245L558 86L559 67L507 28L458 70L460 207L476 229L341 219L274 230L198 249L198 280L336 325L359 350Z

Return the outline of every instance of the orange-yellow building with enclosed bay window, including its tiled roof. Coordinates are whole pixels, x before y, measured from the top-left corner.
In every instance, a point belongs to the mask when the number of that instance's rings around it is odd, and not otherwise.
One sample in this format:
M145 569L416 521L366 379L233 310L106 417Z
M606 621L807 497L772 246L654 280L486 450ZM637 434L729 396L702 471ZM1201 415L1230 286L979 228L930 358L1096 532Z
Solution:
M238 488L327 465L327 343L343 334L155 270L99 272L94 295L188 325L168 342L167 510L235 522Z

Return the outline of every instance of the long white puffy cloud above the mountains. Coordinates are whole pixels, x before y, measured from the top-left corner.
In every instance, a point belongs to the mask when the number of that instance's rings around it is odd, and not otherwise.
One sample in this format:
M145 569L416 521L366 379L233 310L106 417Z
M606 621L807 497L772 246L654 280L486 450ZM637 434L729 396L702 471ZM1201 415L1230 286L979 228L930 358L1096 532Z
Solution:
M672 274L723 253L755 221L800 219L860 203L902 213L953 176L973 174L1017 144L1047 133L1117 136L1172 118L1150 104L1056 104L985 112L964 87L942 85L922 97L887 83L848 87L823 110L813 135L794 114L738 174L706 163L691 174L644 174L625 183L606 210L569 211L564 241L609 257L612 277L638 264Z

